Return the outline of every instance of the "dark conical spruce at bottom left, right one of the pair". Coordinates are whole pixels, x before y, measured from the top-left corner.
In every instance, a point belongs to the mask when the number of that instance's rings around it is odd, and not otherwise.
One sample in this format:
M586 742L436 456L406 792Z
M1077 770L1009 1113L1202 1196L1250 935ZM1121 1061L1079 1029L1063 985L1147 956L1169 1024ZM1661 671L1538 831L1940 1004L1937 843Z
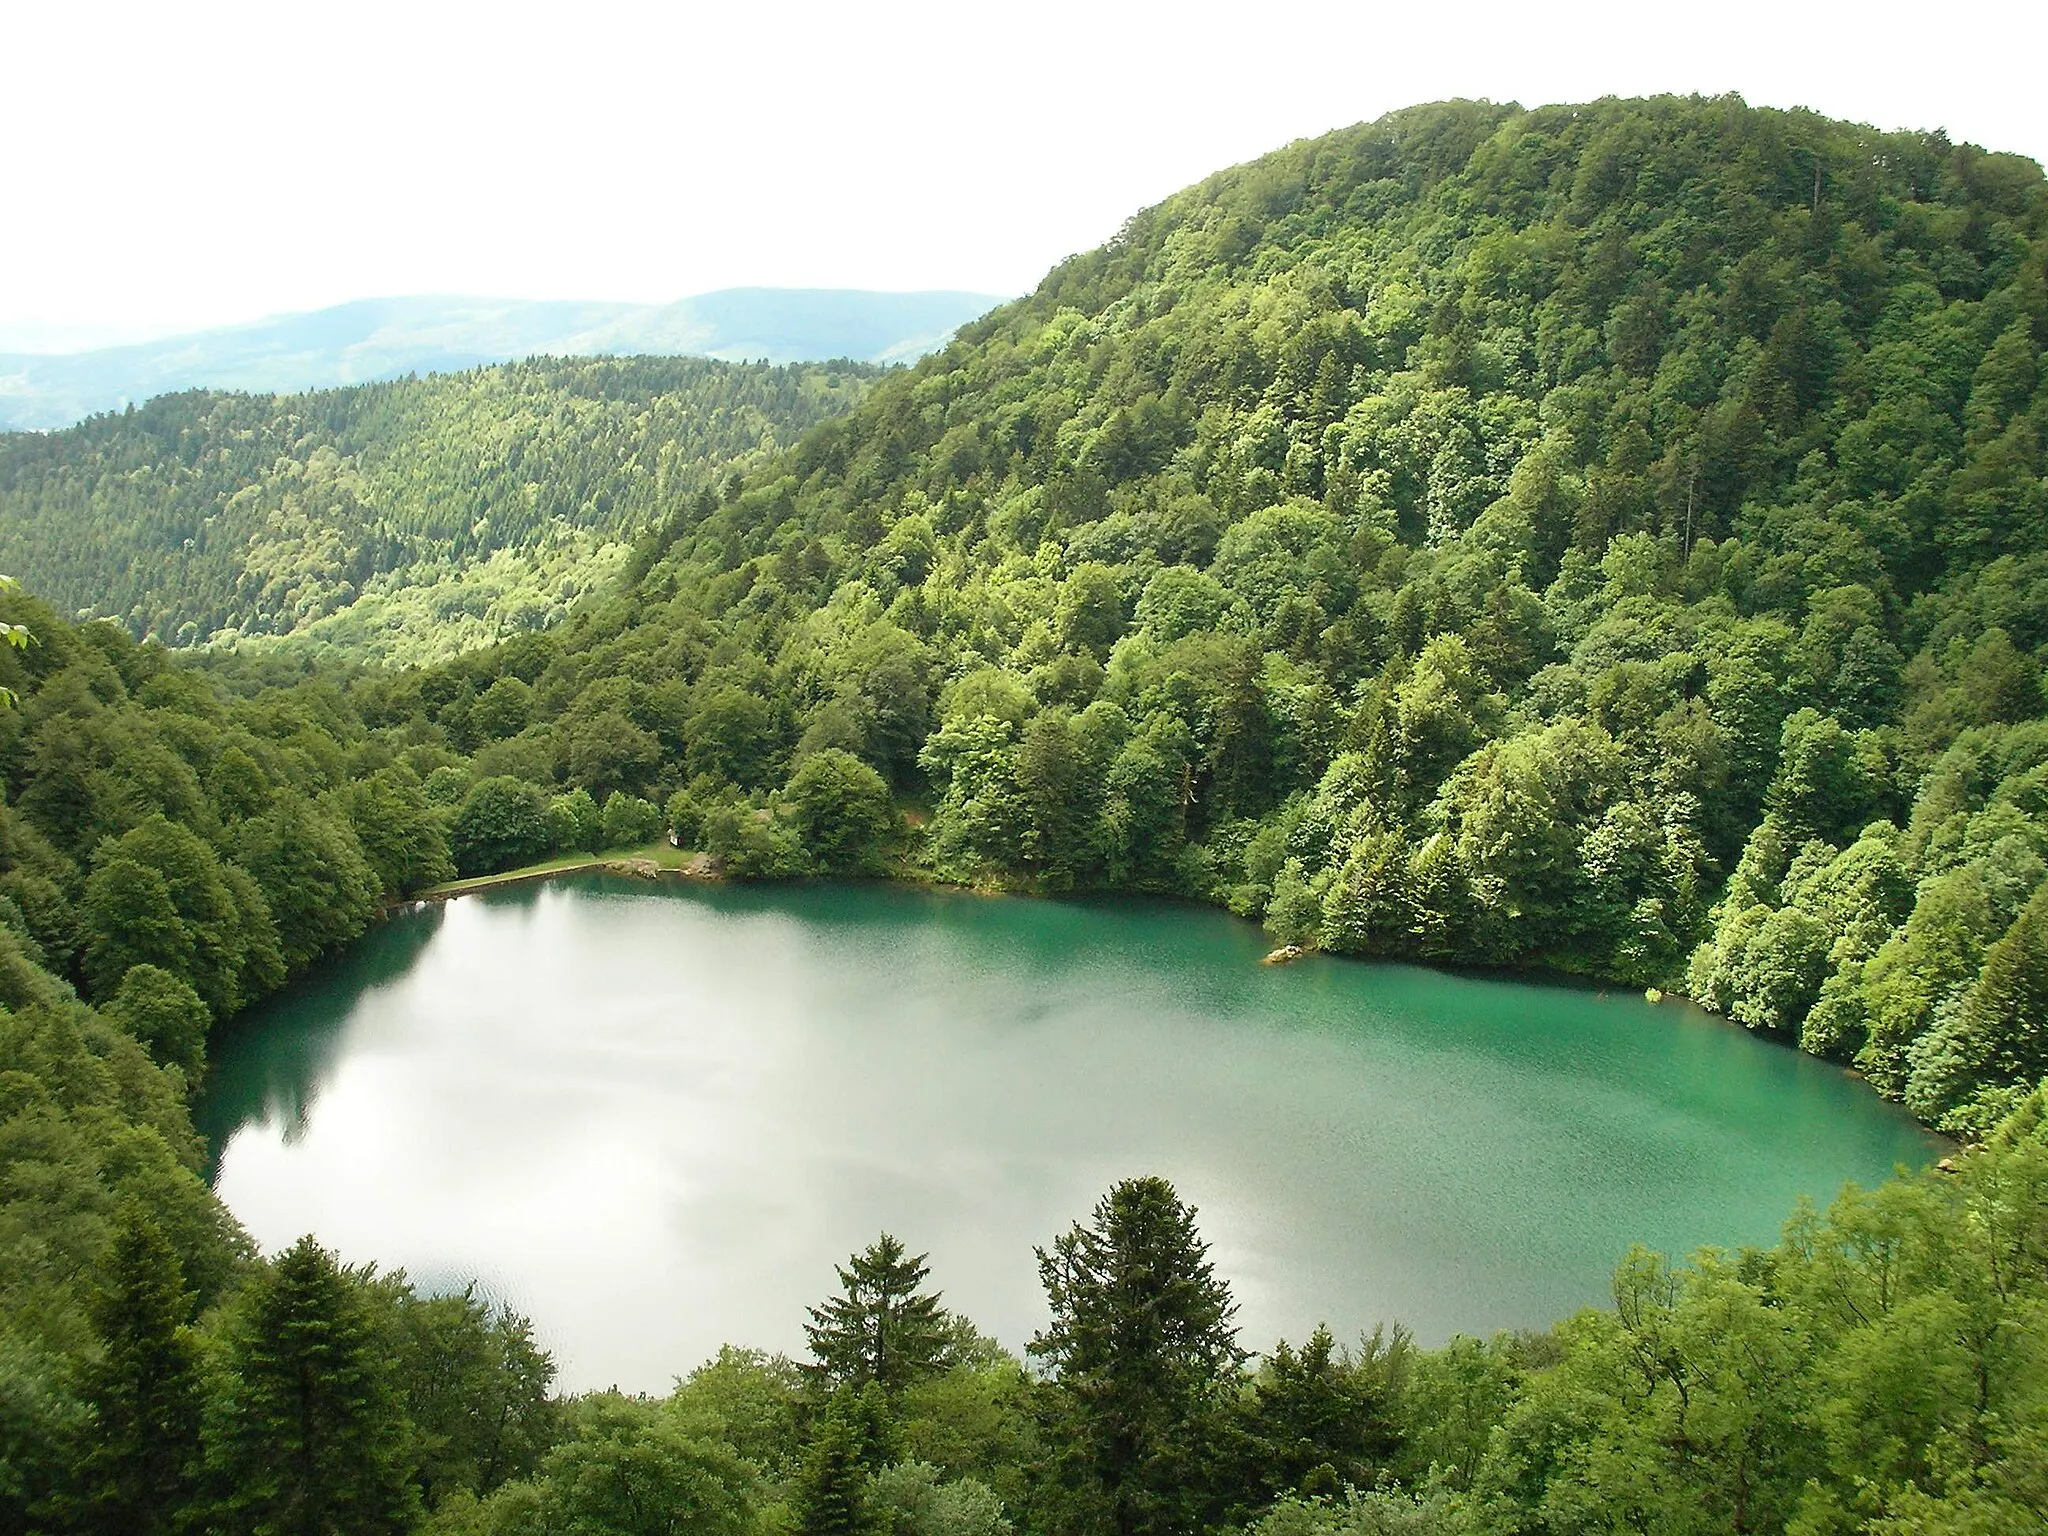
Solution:
M301 1237L250 1286L209 1423L217 1526L252 1536L410 1530L410 1425L360 1280Z

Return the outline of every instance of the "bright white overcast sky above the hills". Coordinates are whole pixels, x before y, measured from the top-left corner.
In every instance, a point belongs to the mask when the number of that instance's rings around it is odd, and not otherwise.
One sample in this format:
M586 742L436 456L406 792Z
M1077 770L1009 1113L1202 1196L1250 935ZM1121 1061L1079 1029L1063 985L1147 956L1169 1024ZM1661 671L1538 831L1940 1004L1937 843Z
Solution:
M1737 90L2048 158L2048 4L0 2L0 348L391 293L1020 293L1444 96Z

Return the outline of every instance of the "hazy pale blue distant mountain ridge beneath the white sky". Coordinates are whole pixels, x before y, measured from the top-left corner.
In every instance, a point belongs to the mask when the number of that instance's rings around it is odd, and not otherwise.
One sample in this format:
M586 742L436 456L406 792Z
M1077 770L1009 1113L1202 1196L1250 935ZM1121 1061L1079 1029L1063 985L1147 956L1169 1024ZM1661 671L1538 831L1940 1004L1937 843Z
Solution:
M418 295L90 352L0 352L0 430L70 426L178 389L295 393L549 356L915 362L1001 299L985 293L721 289L676 303Z

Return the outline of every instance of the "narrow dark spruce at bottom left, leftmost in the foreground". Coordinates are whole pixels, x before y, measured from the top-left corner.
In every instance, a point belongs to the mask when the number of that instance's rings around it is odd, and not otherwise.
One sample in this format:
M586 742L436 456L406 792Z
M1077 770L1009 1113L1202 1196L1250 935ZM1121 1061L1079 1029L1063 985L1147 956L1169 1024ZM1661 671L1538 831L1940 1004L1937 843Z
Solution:
M78 1518L94 1532L152 1536L180 1524L199 1468L199 1354L193 1292L164 1231L121 1212L86 1368L92 1446L78 1464Z

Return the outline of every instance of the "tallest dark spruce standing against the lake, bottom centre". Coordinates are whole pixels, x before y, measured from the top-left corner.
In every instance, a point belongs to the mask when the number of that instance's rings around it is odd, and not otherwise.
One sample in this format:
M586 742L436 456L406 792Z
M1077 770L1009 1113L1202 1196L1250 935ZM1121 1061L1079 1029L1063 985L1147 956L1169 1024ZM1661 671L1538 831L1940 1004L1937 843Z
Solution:
M1243 1360L1237 1307L1161 1178L1124 1180L1053 1249L1038 1249L1053 1325L1030 1354L1053 1370L1049 1442L1073 1497L1067 1524L1180 1536L1210 1522L1225 1386Z

